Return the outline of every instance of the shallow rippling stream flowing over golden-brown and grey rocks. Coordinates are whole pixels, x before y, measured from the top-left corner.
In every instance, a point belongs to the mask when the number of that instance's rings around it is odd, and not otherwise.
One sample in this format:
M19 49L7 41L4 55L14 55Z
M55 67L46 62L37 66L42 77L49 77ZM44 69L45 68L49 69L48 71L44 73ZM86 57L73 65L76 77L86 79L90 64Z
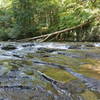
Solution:
M0 43L0 100L100 100L100 43Z

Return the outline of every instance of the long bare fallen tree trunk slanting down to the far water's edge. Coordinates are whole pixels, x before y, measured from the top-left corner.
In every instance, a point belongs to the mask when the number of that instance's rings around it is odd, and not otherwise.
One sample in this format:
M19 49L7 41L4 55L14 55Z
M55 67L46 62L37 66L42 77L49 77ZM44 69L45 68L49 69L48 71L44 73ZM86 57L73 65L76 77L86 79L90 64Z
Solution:
M57 31L57 32L53 32L53 33L50 33L50 34L46 34L46 35L41 35L41 36L37 36L37 37L33 37L33 38L26 38L26 39L21 39L21 40L17 40L18 42L21 42L21 41L25 41L25 42L28 42L28 41L32 41L32 40L37 40L37 39L41 39L40 42L45 42L49 39L52 39L52 38L57 38L59 35L61 35L62 33L65 33L65 32L69 32L69 31L72 31L72 30L75 30L75 29L78 29L78 28L83 28L87 25L89 25L91 23L91 21L86 21L80 25L77 25L77 26L74 26L72 28L67 28L67 29L63 29L61 31Z

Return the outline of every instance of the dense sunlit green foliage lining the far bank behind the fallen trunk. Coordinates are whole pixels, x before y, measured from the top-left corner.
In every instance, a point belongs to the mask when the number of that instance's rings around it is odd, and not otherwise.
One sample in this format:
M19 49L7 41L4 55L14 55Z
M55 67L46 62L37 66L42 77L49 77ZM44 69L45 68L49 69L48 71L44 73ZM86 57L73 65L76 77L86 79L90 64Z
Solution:
M99 41L99 13L99 0L1 0L0 40L48 34L92 18L88 27L66 33L66 41Z

